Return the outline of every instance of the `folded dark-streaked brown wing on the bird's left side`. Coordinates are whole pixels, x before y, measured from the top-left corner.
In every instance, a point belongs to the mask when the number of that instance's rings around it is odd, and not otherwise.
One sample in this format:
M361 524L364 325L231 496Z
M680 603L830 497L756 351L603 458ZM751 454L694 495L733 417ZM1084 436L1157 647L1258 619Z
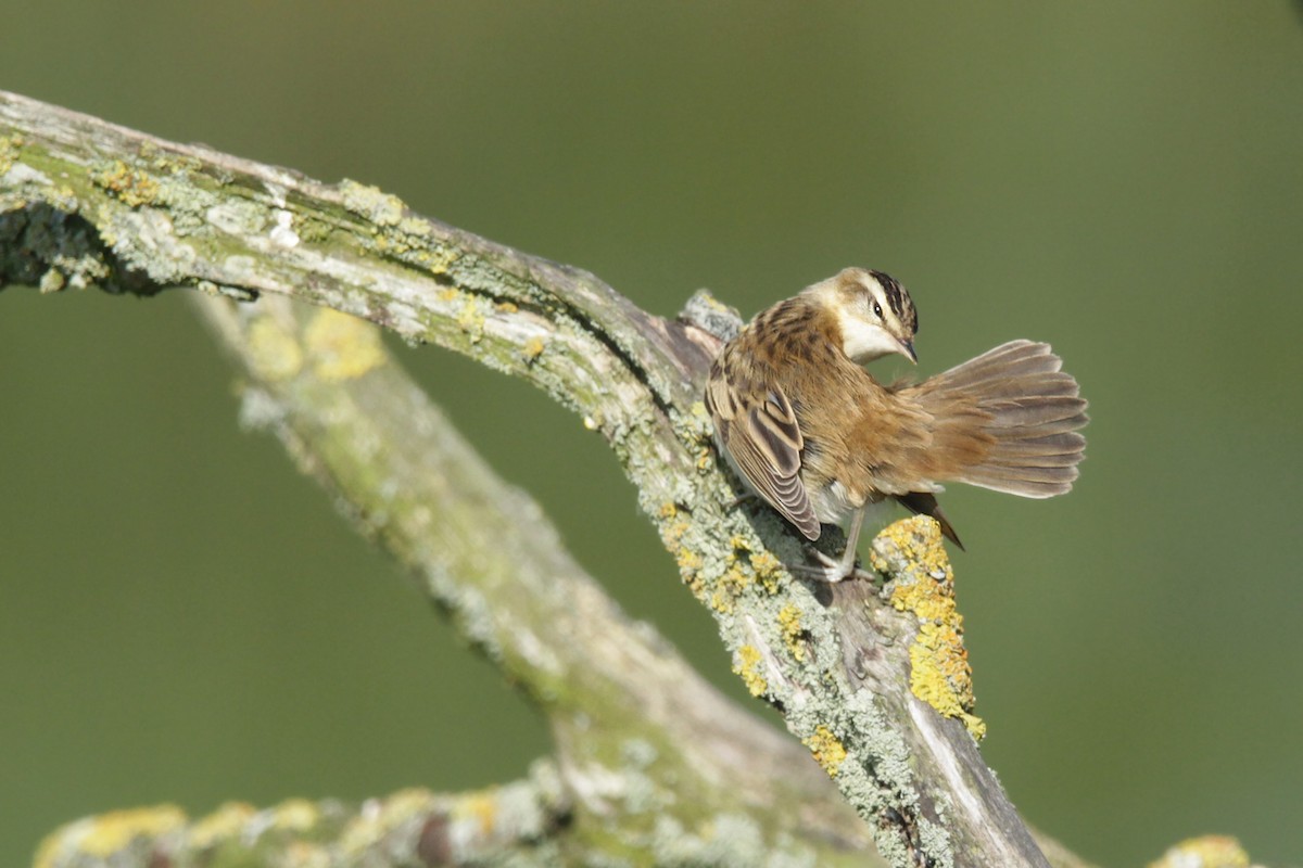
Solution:
M706 387L706 406L719 442L751 487L807 539L817 540L820 523L800 478L804 440L783 390L739 389L717 368Z

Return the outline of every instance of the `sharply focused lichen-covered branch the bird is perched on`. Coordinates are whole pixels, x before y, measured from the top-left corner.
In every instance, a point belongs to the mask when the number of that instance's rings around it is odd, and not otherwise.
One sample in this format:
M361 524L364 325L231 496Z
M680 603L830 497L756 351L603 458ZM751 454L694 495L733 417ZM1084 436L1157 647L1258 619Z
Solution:
M924 592L949 573L930 530L915 522L876 543L882 583L794 580L783 565L803 560L801 543L767 511L732 506L711 449L698 396L718 338L706 331L650 316L592 275L416 216L370 187L322 185L0 94L4 282L287 295L539 385L606 436L739 674L783 712L889 861L1048 864L969 734L977 722L958 618ZM294 342L311 340L305 332ZM268 370L293 359L278 342L266 337ZM344 370L366 358L354 349L337 354ZM380 510L384 522L364 515L395 549L388 518L399 511ZM474 569L486 556L461 554L447 569ZM909 583L919 591L900 592ZM487 613L461 616L491 649ZM537 664L504 655L508 666ZM582 678L566 665L554 671ZM577 737L558 726L559 743Z

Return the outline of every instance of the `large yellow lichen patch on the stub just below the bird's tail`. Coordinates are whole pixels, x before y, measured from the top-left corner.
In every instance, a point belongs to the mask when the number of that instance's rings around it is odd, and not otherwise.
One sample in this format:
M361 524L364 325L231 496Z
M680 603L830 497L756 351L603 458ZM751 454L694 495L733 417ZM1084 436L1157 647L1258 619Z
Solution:
M954 570L941 541L939 526L916 515L895 522L874 540L873 566L887 571L882 550L899 556L911 569L895 575L891 605L919 619L909 647L909 690L946 717L958 717L973 738L986 724L972 713L972 666L963 640L963 616L955 605ZM881 550L880 550L881 549Z

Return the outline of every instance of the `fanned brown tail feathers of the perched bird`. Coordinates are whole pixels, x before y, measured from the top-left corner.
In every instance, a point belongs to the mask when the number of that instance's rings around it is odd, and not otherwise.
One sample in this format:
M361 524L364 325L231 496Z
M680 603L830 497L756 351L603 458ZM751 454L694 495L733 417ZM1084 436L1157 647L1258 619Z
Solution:
M1062 364L1048 344L1010 341L903 392L932 414L942 446L971 444L980 426L984 448L947 468L954 481L1053 497L1072 488L1085 453L1078 429L1089 420Z

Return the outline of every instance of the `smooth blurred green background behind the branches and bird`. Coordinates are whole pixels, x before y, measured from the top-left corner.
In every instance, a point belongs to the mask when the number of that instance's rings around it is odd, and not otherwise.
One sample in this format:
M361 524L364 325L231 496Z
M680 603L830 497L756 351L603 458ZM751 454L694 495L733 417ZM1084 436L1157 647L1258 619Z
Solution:
M1286 3L9 4L0 87L377 183L676 312L847 264L920 370L1054 344L1076 491L952 489L984 753L1083 855L1303 858L1303 20ZM724 690L614 459L405 363ZM507 781L537 716L270 437L180 293L0 294L0 864L73 817ZM752 700L744 700L752 701ZM753 703L757 713L766 713Z

